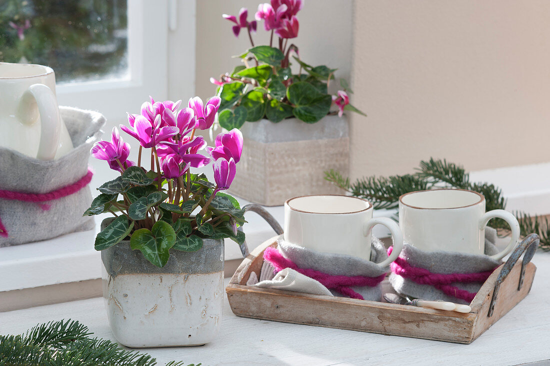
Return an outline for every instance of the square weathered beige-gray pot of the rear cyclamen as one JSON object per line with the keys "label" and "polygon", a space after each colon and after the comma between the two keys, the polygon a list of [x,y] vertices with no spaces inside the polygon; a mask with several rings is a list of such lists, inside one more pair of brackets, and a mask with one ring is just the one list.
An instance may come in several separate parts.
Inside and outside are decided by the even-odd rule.
{"label": "square weathered beige-gray pot of the rear cyclamen", "polygon": [[349,171],[349,128],[344,117],[326,116],[317,123],[296,118],[267,119],[241,127],[243,155],[230,192],[266,206],[289,198],[342,193],[324,179],[334,169]]}

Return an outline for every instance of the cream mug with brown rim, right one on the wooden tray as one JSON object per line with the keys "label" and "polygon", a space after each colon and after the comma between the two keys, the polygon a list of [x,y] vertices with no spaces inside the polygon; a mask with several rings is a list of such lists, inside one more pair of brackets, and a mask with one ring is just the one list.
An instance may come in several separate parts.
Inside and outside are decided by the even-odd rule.
{"label": "cream mug with brown rim, right one on the wooden tray", "polygon": [[464,189],[432,189],[410,192],[399,197],[399,227],[405,243],[435,251],[471,254],[485,253],[485,226],[491,218],[508,222],[511,239],[502,259],[518,242],[520,228],[514,215],[504,210],[485,212],[485,197]]}

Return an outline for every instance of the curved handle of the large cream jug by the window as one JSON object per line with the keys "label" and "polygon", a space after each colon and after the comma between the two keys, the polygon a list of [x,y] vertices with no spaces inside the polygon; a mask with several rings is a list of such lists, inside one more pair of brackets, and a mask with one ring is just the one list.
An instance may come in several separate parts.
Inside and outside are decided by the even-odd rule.
{"label": "curved handle of the large cream jug by the window", "polygon": [[53,91],[44,84],[33,84],[25,90],[19,101],[17,118],[23,124],[36,121],[36,106],[40,113],[40,144],[36,159],[53,160],[59,146],[61,114]]}

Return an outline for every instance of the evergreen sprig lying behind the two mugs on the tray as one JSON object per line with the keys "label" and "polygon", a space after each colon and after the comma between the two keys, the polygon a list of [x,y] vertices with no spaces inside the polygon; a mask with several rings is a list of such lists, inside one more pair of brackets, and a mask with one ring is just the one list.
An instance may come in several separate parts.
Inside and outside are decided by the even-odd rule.
{"label": "evergreen sprig lying behind the two mugs on the tray", "polygon": [[[505,209],[506,200],[502,189],[490,183],[472,183],[470,174],[464,167],[430,158],[421,161],[414,174],[389,177],[363,177],[351,183],[348,177],[333,170],[325,172],[325,179],[346,190],[351,195],[371,201],[375,209],[395,209],[399,206],[399,196],[415,190],[431,188],[459,188],[473,190],[485,196],[486,209]],[[540,236],[539,248],[550,250],[550,222],[548,218],[530,216],[524,212],[516,212],[520,224],[521,234],[526,236],[537,233]],[[494,218],[489,222],[494,228],[508,228],[508,224],[501,218]]]}

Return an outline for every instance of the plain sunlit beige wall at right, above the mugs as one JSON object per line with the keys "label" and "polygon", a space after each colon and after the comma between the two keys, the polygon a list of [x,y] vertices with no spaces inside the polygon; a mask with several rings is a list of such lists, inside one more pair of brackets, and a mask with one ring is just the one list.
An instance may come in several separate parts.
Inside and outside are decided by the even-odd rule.
{"label": "plain sunlit beige wall at right, above the mugs", "polygon": [[355,1],[351,176],[549,161],[549,19],[548,1]]}

